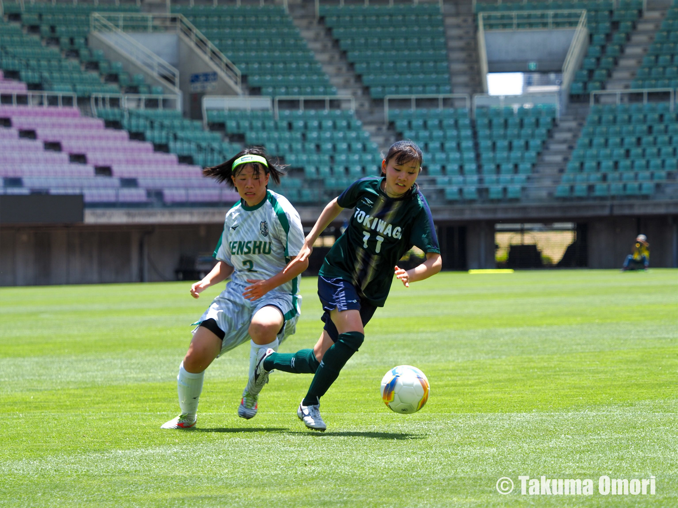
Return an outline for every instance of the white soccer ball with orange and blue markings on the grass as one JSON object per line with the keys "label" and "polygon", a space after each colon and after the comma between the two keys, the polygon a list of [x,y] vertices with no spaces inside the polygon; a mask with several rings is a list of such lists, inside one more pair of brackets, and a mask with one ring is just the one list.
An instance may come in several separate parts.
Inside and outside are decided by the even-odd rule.
{"label": "white soccer ball with orange and blue markings on the grass", "polygon": [[410,365],[392,368],[382,378],[382,399],[391,410],[416,413],[428,400],[428,379],[424,372]]}

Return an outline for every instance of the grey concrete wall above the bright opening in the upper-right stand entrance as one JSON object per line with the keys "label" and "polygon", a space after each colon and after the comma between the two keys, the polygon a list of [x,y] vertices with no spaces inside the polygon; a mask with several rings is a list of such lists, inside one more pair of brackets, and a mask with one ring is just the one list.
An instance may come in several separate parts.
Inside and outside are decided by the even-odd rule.
{"label": "grey concrete wall above the bright opening in the upper-right stand entrance", "polygon": [[572,37],[574,28],[485,32],[487,70],[527,72],[527,63],[537,62],[539,72],[560,72]]}

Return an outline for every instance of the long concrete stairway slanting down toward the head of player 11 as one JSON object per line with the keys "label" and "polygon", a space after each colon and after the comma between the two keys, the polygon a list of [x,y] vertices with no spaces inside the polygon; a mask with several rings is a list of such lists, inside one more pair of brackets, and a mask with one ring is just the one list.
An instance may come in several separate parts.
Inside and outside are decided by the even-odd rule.
{"label": "long concrete stairway slanting down toward the head of player 11", "polygon": [[337,88],[338,95],[355,98],[356,116],[363,122],[363,129],[370,132],[370,138],[384,151],[395,142],[395,132],[384,128],[384,110],[381,101],[372,101],[370,93],[346,60],[346,55],[332,38],[330,30],[315,18],[313,3],[290,4],[290,16],[306,39],[308,49],[323,66],[330,77],[330,83]]}

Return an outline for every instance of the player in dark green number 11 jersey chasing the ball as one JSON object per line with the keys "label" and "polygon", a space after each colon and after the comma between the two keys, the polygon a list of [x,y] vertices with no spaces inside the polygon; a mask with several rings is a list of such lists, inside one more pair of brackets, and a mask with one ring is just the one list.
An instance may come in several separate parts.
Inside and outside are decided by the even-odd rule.
{"label": "player in dark green number 11 jersey chasing the ball", "polygon": [[[364,326],[376,308],[384,306],[394,272],[410,287],[441,269],[431,210],[416,184],[421,163],[422,152],[412,141],[393,144],[382,161],[382,176],[362,178],[332,199],[298,256],[287,265],[290,270],[295,263],[305,262],[320,233],[344,208],[353,208],[348,228],[325,256],[318,277],[325,326],[315,348],[292,354],[261,351],[247,384],[256,391],[274,369],[315,374],[297,410],[310,429],[327,428],[320,416],[320,397],[363,343]],[[426,252],[426,261],[411,270],[400,269],[398,260],[412,246]]]}

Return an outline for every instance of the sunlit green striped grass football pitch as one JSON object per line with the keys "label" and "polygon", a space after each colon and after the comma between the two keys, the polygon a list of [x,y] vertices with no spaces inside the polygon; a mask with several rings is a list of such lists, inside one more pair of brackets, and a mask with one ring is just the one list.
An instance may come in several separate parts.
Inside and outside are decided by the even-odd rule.
{"label": "sunlit green striped grass football pitch", "polygon": [[[319,336],[315,283],[280,351]],[[678,507],[676,270],[395,281],[322,399],[325,433],[296,417],[308,374],[271,374],[256,418],[238,418],[248,346],[207,369],[196,430],[159,428],[221,289],[189,287],[0,290],[0,506]],[[416,414],[380,398],[399,364],[431,382]],[[542,475],[593,494],[521,493],[519,476]],[[654,477],[655,494],[601,494],[601,476]]]}

